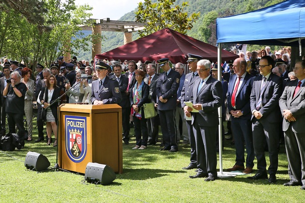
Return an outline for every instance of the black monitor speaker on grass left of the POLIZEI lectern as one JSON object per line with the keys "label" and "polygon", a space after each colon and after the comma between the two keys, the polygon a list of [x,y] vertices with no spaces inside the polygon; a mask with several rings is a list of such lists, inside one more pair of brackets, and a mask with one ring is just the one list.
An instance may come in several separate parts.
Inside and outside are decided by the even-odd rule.
{"label": "black monitor speaker on grass left of the POLIZEI lectern", "polygon": [[42,154],[38,154],[36,152],[28,152],[24,165],[27,167],[27,169],[44,171],[50,166],[50,162]]}

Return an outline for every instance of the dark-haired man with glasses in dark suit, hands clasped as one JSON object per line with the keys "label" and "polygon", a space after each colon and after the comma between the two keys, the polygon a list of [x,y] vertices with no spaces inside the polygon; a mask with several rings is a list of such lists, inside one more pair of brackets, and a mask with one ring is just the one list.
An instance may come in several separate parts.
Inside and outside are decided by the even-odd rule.
{"label": "dark-haired man with glasses in dark suit, hands clasped", "polygon": [[270,56],[263,56],[260,59],[260,75],[254,78],[250,96],[253,146],[259,171],[248,178],[257,180],[268,177],[264,147],[267,142],[270,160],[269,183],[276,182],[279,147],[278,123],[280,121],[278,100],[282,92],[282,79],[272,73],[273,67],[274,60]]}

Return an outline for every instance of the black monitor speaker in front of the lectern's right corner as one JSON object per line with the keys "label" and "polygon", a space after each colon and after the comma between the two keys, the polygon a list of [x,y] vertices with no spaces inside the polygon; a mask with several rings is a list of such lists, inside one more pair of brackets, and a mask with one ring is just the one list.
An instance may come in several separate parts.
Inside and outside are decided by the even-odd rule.
{"label": "black monitor speaker in front of the lectern's right corner", "polygon": [[108,185],[116,179],[116,174],[107,165],[89,162],[86,166],[85,179],[88,182],[101,182]]}

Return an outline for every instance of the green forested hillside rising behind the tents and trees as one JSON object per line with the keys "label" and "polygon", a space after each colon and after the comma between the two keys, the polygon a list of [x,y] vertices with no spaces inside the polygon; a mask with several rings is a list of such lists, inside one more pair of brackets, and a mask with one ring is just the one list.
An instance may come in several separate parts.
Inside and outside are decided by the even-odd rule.
{"label": "green forested hillside rising behind the tents and trees", "polygon": [[[189,30],[187,34],[203,42],[215,45],[216,17],[246,13],[282,2],[284,0],[176,0],[175,4],[181,5],[183,1],[187,1],[189,4],[189,6],[184,10],[188,14],[200,12],[200,18],[194,24],[193,29]],[[135,10],[136,9],[137,8],[135,8]],[[135,21],[135,11],[124,14],[119,20]],[[242,22],[241,26],[243,26]],[[124,36],[121,32],[105,31],[102,32],[102,35],[105,37],[104,41],[102,42],[102,52],[106,52],[123,45]],[[137,38],[138,34],[135,32],[133,34],[133,39],[136,40]],[[91,54],[83,54],[83,56],[91,56]]]}

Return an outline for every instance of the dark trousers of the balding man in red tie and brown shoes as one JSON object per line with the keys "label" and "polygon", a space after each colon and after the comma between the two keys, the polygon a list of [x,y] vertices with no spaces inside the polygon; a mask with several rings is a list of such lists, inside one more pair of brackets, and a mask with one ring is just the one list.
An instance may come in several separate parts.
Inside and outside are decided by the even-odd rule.
{"label": "dark trousers of the balding man in red tie and brown shoes", "polygon": [[252,140],[252,126],[250,119],[235,118],[232,116],[231,129],[234,135],[236,164],[244,166],[244,142],[246,146],[246,166],[253,168],[254,148]]}

